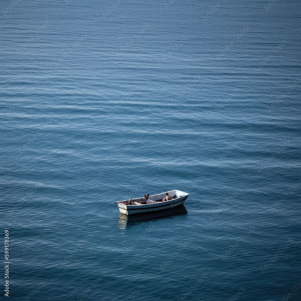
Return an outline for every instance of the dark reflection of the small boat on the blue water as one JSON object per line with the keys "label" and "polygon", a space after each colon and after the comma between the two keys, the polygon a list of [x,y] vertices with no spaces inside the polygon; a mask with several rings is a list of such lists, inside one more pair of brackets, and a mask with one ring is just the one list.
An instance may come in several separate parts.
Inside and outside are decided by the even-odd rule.
{"label": "dark reflection of the small boat on the blue water", "polygon": [[132,222],[142,222],[144,220],[149,220],[149,219],[160,219],[161,217],[165,218],[167,216],[185,215],[186,213],[187,210],[184,205],[180,205],[170,209],[149,212],[149,213],[140,213],[140,214],[132,214],[132,215],[126,215],[120,213],[118,226],[119,228],[124,228],[126,225],[129,225]]}

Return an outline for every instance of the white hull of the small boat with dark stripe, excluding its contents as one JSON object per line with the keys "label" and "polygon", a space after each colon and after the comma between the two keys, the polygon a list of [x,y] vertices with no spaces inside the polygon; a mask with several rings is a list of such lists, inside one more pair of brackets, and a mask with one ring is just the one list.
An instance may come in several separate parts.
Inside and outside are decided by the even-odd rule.
{"label": "white hull of the small boat with dark stripe, excluding its contents", "polygon": [[[141,204],[141,205],[125,205],[123,203],[118,202],[119,211],[120,213],[131,215],[131,214],[138,214],[138,213],[154,212],[163,209],[170,209],[182,205],[189,195],[188,193],[180,190],[172,190],[167,192],[170,197],[176,197],[176,198],[169,201],[157,202],[156,200],[160,200],[160,199],[162,200],[163,197],[166,196],[166,192],[165,192],[165,193],[149,196],[148,202],[154,201],[154,203]],[[136,202],[141,200],[143,200],[143,197],[135,199]]]}

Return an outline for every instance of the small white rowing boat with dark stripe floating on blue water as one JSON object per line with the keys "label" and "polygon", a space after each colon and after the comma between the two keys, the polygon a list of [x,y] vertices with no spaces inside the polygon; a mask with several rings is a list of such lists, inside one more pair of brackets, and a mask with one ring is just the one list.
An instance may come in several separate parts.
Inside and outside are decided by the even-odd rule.
{"label": "small white rowing boat with dark stripe floating on blue water", "polygon": [[144,195],[143,197],[136,199],[115,203],[118,204],[120,213],[131,215],[174,208],[182,205],[187,199],[188,195],[189,193],[184,191],[171,190],[160,194]]}

